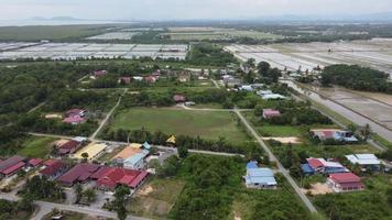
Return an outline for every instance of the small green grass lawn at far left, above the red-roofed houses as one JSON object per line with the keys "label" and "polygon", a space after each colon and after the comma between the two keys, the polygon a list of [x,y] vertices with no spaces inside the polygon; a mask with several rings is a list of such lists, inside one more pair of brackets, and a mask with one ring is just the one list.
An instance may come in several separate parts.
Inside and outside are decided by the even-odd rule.
{"label": "small green grass lawn at far left, above the red-roofed houses", "polygon": [[52,151],[54,138],[29,138],[23,144],[18,154],[26,157],[45,158]]}

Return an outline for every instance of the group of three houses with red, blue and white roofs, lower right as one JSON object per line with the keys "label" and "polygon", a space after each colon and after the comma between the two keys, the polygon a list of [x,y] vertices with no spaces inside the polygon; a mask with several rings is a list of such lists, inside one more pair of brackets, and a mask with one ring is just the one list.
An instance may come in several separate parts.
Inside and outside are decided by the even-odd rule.
{"label": "group of three houses with red, blue and white roofs, lower right", "polygon": [[[380,170],[382,162],[374,154],[346,155],[348,162],[357,164],[362,170]],[[335,160],[307,158],[301,168],[305,175],[327,175],[327,186],[336,193],[362,190],[364,185],[359,176],[351,173],[347,167]]]}

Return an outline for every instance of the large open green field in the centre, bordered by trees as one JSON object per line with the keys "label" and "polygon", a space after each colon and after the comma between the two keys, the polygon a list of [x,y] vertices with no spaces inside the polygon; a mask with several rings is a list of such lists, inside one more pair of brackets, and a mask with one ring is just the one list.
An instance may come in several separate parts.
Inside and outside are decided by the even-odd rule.
{"label": "large open green field in the centre, bordered by trees", "polygon": [[184,134],[243,143],[247,135],[242,133],[229,112],[189,111],[164,108],[133,108],[117,113],[111,124],[113,129],[162,131],[166,134]]}

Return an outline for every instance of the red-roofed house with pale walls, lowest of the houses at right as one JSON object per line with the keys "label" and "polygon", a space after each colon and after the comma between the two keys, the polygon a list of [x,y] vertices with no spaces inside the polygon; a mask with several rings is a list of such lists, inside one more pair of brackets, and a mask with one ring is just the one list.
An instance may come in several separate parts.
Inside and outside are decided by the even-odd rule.
{"label": "red-roofed house with pale walls, lowest of the houses at right", "polygon": [[327,185],[336,193],[356,191],[364,188],[361,179],[352,173],[330,174]]}

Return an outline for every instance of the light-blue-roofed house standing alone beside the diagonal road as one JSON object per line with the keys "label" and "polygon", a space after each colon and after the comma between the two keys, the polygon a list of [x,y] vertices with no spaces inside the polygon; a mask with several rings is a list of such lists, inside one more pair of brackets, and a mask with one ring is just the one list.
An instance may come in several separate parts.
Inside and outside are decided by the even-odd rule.
{"label": "light-blue-roofed house standing alone beside the diagonal road", "polygon": [[247,188],[276,189],[277,183],[270,168],[259,168],[257,162],[247,164],[247,175],[243,177]]}

